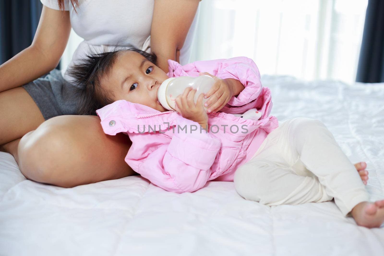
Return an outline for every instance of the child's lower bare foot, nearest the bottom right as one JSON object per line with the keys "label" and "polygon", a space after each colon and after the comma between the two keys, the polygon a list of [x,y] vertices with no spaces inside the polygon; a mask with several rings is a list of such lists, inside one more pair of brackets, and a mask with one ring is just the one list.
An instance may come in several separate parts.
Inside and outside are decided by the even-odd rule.
{"label": "child's lower bare foot, nearest the bottom right", "polygon": [[358,203],[351,213],[357,225],[378,228],[384,221],[384,200]]}

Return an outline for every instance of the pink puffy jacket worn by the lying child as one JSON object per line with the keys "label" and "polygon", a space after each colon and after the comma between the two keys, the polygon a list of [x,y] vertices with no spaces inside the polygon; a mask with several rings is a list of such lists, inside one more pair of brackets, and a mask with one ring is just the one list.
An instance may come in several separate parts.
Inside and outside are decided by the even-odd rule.
{"label": "pink puffy jacket worn by the lying child", "polygon": [[[266,135],[278,127],[276,117],[269,116],[271,92],[262,86],[256,64],[246,57],[195,61],[184,66],[168,60],[168,64],[169,77],[208,72],[222,79],[237,79],[245,88],[221,112],[208,114],[209,132],[176,111],[159,112],[125,100],[96,111],[104,132],[129,135],[132,146],[125,161],[165,190],[194,192],[209,180],[233,181],[237,167],[247,162]],[[233,115],[251,108],[263,113],[258,121]]]}

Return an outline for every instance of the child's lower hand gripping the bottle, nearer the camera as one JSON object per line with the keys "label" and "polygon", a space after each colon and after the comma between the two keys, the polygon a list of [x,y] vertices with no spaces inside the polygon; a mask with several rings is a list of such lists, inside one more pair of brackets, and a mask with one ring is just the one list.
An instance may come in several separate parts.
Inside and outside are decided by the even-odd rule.
{"label": "child's lower hand gripping the bottle, nearer the camera", "polygon": [[204,93],[199,95],[196,104],[193,101],[195,93],[196,89],[192,89],[192,87],[185,88],[183,94],[175,98],[175,109],[182,117],[198,122],[203,129],[207,129],[208,115],[203,107]]}

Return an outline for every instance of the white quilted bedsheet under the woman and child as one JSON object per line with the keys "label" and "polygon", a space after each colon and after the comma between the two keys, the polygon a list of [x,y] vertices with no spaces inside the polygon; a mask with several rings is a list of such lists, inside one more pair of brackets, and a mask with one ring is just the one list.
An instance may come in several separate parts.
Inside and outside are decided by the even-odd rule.
{"label": "white quilted bedsheet under the woman and child", "polygon": [[[384,83],[263,76],[279,121],[323,121],[384,198]],[[324,159],[326,161],[326,159]],[[362,228],[333,201],[265,206],[233,182],[166,192],[140,176],[75,188],[26,180],[0,152],[0,255],[384,255],[384,226]]]}

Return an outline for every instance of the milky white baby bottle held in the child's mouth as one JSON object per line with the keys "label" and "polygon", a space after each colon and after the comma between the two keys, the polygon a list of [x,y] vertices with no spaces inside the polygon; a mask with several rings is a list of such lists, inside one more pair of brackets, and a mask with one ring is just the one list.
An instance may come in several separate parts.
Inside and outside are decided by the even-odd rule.
{"label": "milky white baby bottle held in the child's mouth", "polygon": [[[188,86],[196,89],[194,102],[196,104],[197,98],[201,93],[207,93],[209,89],[214,85],[215,79],[208,75],[190,77],[190,76],[179,76],[178,78],[168,78],[165,80],[159,87],[157,91],[157,98],[159,99],[160,104],[170,110],[175,110],[175,98],[183,94],[184,89]],[[203,107],[207,110],[207,107],[204,106],[204,103],[208,100],[203,98]]]}

